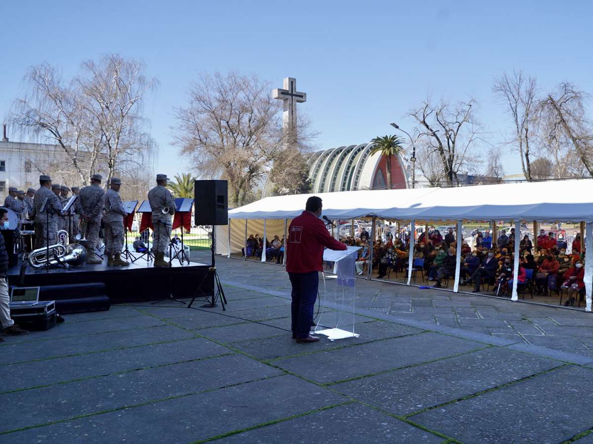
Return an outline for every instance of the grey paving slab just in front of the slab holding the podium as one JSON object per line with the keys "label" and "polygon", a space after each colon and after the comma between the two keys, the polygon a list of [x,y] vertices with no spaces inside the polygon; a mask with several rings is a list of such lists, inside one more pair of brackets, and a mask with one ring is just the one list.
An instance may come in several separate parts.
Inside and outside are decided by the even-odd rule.
{"label": "grey paving slab just in front of the slab holding the podium", "polygon": [[[432,346],[435,343],[438,343],[438,347]],[[281,368],[324,383],[447,358],[484,347],[483,344],[465,339],[423,333],[274,362]],[[418,350],[423,352],[419,353]]]}

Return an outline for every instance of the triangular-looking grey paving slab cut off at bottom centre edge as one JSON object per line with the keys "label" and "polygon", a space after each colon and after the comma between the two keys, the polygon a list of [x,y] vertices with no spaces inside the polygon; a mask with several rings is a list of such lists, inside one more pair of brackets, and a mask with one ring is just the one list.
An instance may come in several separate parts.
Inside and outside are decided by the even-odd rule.
{"label": "triangular-looking grey paving slab cut off at bottom centre edge", "polygon": [[310,437],[308,442],[359,443],[441,443],[442,437],[411,426],[393,416],[358,403],[312,413],[266,427],[227,436],[214,443],[280,443],[294,437]]}

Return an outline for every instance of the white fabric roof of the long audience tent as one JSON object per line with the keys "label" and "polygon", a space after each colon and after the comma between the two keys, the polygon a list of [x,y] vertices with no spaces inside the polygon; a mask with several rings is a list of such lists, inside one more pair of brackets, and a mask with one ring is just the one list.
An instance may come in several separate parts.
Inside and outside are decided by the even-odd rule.
{"label": "white fabric roof of the long audience tent", "polygon": [[[229,211],[229,218],[293,218],[311,195],[267,197]],[[315,195],[332,219],[593,221],[593,179]]]}

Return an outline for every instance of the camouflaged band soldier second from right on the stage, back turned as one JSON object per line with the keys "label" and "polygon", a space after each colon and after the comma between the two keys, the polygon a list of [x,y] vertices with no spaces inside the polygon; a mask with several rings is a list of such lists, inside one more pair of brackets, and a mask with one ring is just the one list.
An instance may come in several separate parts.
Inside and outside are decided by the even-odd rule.
{"label": "camouflaged band soldier second from right on the stage, back turned", "polygon": [[123,250],[123,218],[127,216],[123,208],[122,199],[119,197],[119,189],[122,181],[119,178],[111,178],[109,189],[105,193],[105,253],[107,254],[107,266],[130,265],[120,257]]}

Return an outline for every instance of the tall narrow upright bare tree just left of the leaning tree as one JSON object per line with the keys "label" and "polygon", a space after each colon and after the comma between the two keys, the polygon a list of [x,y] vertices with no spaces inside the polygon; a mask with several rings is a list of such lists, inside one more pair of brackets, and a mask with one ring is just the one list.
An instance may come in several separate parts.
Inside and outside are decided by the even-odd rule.
{"label": "tall narrow upright bare tree just left of the leaning tree", "polygon": [[503,73],[494,81],[493,91],[504,102],[506,112],[511,116],[513,133],[511,144],[521,157],[521,169],[525,178],[531,180],[531,149],[537,135],[532,127],[535,121],[538,89],[534,77],[525,76],[521,70],[512,75]]}

